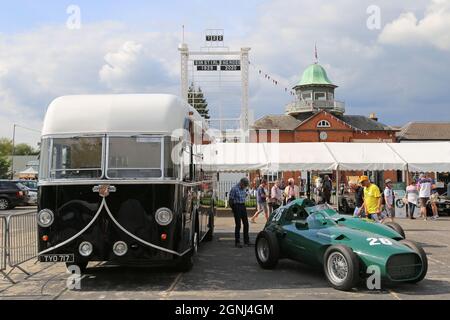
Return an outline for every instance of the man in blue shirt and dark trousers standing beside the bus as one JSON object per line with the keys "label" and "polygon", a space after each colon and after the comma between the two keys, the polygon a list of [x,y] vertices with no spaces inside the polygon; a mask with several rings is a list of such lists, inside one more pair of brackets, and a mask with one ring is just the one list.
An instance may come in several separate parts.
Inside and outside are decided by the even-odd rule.
{"label": "man in blue shirt and dark trousers standing beside the bus", "polygon": [[234,221],[236,223],[234,238],[235,246],[237,248],[242,248],[240,241],[241,221],[244,225],[244,243],[247,246],[250,245],[248,216],[247,209],[245,208],[245,199],[247,198],[247,188],[249,184],[247,178],[242,178],[241,181],[230,190],[229,203],[231,210],[233,210]]}

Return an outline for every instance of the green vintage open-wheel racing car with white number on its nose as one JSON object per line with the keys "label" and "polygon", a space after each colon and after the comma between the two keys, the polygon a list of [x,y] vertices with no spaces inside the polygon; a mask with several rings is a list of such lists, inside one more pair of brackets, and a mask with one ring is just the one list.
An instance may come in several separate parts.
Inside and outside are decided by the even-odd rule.
{"label": "green vintage open-wheel racing car with white number on its nose", "polygon": [[275,210],[255,243],[259,265],[273,269],[289,258],[323,268],[329,284],[350,290],[378,270],[381,279],[416,283],[425,278],[425,251],[406,240],[398,224],[343,216],[328,205],[298,199]]}

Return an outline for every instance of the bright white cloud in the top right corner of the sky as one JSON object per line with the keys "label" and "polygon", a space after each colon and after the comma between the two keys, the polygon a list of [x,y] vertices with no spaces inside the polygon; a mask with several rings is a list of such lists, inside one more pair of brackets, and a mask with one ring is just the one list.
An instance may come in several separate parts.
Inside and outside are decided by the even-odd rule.
{"label": "bright white cloud in the top right corner of the sky", "polygon": [[428,45],[450,51],[450,0],[433,0],[422,19],[402,13],[387,24],[379,40],[384,44]]}

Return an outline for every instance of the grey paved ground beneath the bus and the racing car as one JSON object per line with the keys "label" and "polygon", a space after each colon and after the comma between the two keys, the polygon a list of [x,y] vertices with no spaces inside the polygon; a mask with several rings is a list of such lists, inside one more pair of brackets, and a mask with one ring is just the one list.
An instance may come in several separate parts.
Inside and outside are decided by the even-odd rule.
{"label": "grey paved ground beneath the bus and the racing car", "polygon": [[[251,225],[253,240],[262,220]],[[450,299],[450,218],[398,222],[428,254],[428,275],[419,284],[340,292],[329,287],[321,270],[297,262],[283,260],[276,270],[263,270],[254,248],[234,248],[233,219],[218,218],[214,241],[200,247],[189,273],[93,263],[81,290],[68,290],[62,264],[31,261],[24,266],[30,277],[12,272],[15,285],[0,276],[0,299]]]}

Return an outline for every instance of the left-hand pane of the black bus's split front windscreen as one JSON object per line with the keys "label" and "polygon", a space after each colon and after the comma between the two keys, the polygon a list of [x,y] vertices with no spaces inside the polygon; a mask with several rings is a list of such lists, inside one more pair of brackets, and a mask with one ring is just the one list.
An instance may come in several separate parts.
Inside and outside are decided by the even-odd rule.
{"label": "left-hand pane of the black bus's split front windscreen", "polygon": [[101,178],[102,147],[102,137],[54,138],[50,147],[50,177]]}

